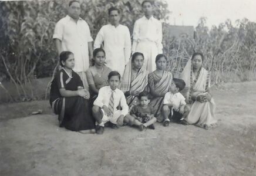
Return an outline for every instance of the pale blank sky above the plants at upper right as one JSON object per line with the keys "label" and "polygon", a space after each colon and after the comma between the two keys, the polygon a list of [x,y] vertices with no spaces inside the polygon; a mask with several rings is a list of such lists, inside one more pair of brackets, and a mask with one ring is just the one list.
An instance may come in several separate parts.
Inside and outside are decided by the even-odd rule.
{"label": "pale blank sky above the plants at upper right", "polygon": [[166,0],[171,11],[171,25],[197,26],[201,16],[207,18],[207,26],[218,26],[226,19],[247,18],[256,22],[256,0]]}

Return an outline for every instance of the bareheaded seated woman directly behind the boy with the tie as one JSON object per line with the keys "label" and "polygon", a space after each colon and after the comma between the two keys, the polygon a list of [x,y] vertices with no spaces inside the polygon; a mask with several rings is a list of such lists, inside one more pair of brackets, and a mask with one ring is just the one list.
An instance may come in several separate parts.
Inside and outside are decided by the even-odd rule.
{"label": "bareheaded seated woman directly behind the boy with the tie", "polygon": [[94,100],[99,93],[99,89],[109,85],[109,83],[107,83],[107,75],[109,75],[111,69],[105,65],[105,59],[105,50],[101,48],[93,50],[94,65],[87,69],[86,76],[89,90]]}

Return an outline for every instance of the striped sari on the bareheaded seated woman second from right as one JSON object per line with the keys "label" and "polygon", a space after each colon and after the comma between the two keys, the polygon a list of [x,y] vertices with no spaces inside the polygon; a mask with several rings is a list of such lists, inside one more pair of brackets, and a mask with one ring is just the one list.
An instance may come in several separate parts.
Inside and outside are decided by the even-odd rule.
{"label": "striped sari on the bareheaded seated woman second from right", "polygon": [[[157,81],[152,87],[151,82]],[[149,74],[149,89],[154,89],[156,93],[166,94],[169,90],[171,81],[173,80],[173,75],[170,72],[164,71],[162,77],[158,77],[154,72]],[[154,116],[157,118],[157,121],[161,122],[164,120],[164,117],[161,116],[161,111],[163,108],[164,97],[153,97],[150,100],[150,104],[154,109]]]}

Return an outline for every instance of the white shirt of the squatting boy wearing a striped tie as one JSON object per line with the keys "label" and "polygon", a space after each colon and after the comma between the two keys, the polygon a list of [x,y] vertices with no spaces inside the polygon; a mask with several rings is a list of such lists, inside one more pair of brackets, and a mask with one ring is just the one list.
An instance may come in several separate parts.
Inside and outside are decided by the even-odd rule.
{"label": "white shirt of the squatting boy wearing a striped tie", "polygon": [[[112,89],[110,88],[110,86],[105,86],[100,88],[97,99],[94,101],[93,104],[101,108],[104,105],[109,107],[109,100],[110,100],[111,94],[112,94]],[[116,89],[114,90],[113,96],[114,96],[114,112],[117,110],[117,107],[120,104],[120,106],[122,107],[121,114],[123,116],[126,116],[126,114],[128,113],[129,107],[126,103],[126,99],[124,97],[123,92],[119,89]]]}

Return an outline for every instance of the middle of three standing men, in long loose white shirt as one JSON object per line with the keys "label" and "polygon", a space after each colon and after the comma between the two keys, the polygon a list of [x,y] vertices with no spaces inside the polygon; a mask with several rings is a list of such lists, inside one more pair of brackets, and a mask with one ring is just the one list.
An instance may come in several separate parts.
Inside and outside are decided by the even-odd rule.
{"label": "middle of three standing men, in long loose white shirt", "polygon": [[130,32],[127,26],[119,23],[119,9],[114,7],[109,9],[109,21],[110,24],[102,26],[97,33],[94,49],[100,48],[104,42],[107,66],[123,76],[124,66],[131,55]]}

